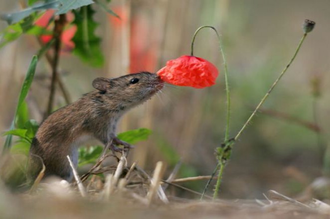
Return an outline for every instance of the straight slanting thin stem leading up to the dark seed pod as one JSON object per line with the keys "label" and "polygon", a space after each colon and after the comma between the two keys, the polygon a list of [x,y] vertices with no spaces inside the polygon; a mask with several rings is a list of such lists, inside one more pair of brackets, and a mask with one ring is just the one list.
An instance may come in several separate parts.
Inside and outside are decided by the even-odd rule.
{"label": "straight slanting thin stem leading up to the dark seed pod", "polygon": [[266,101],[266,99],[268,98],[268,96],[270,95],[270,93],[273,91],[273,89],[275,88],[275,86],[277,85],[277,83],[280,81],[280,79],[282,78],[282,76],[286,73],[286,71],[288,70],[288,68],[290,67],[291,63],[293,62],[293,60],[295,60],[300,47],[302,46],[305,38],[307,36],[307,33],[304,33],[303,37],[301,38],[298,47],[296,49],[295,54],[293,55],[293,57],[291,58],[289,64],[283,69],[283,71],[281,72],[281,74],[279,75],[279,77],[275,80],[275,82],[273,83],[273,85],[270,87],[270,89],[268,90],[268,92],[266,93],[266,95],[261,99],[260,103],[258,104],[258,106],[256,107],[256,109],[254,109],[254,111],[252,112],[252,114],[250,115],[250,117],[248,118],[248,120],[244,123],[243,127],[241,128],[241,130],[239,130],[239,132],[236,134],[234,141],[236,141],[239,136],[242,134],[242,132],[244,131],[244,129],[246,128],[246,126],[250,123],[250,121],[252,120],[252,118],[255,116],[255,114],[257,113],[257,111],[260,109],[260,107],[264,104],[264,102]]}

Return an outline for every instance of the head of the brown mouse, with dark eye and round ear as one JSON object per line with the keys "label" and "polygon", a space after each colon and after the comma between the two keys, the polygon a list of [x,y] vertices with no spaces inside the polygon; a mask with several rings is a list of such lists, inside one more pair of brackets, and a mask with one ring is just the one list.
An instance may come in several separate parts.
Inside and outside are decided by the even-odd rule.
{"label": "head of the brown mouse, with dark eye and round ear", "polygon": [[121,107],[133,107],[160,91],[164,82],[156,74],[140,72],[119,78],[96,78],[93,87],[109,101]]}

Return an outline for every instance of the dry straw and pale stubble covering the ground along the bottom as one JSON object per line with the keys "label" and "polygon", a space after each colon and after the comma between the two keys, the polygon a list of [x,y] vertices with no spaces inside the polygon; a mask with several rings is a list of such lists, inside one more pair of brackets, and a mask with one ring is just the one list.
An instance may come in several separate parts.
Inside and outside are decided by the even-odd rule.
{"label": "dry straw and pale stubble covering the ground along the bottom", "polygon": [[[105,172],[105,179],[93,175],[92,171],[83,184],[78,182],[70,185],[64,180],[47,179],[39,184],[33,194],[28,192],[10,194],[1,187],[1,218],[319,219],[330,217],[330,205],[324,202],[311,199],[302,203],[276,191],[269,191],[264,195],[265,200],[197,201],[179,198],[165,190],[166,187],[162,187],[165,185],[165,183],[161,184],[164,178],[162,162],[157,163],[153,176],[149,176],[136,163],[129,166],[126,156],[127,153],[123,153],[120,158],[117,157],[116,168],[103,166],[104,159],[101,157],[99,170],[113,168],[112,172]],[[97,170],[95,166],[93,168]],[[207,178],[209,176],[186,179],[171,177],[170,185]],[[80,185],[80,188],[77,185]]]}

